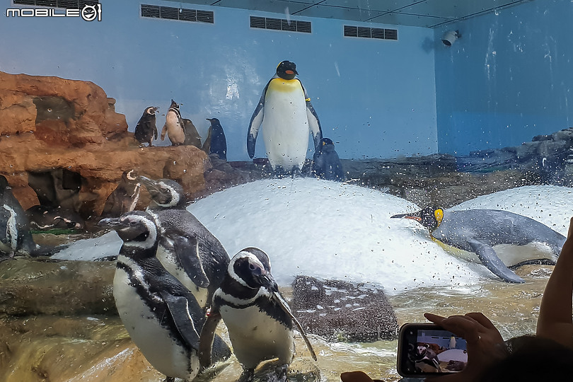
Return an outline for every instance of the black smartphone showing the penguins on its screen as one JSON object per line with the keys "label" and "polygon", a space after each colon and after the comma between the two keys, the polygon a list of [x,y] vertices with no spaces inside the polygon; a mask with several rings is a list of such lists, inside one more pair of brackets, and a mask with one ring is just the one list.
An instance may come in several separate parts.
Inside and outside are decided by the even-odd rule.
{"label": "black smartphone showing the penguins on its screen", "polygon": [[468,364],[463,337],[432,323],[405,323],[398,335],[398,374],[428,377],[458,373]]}

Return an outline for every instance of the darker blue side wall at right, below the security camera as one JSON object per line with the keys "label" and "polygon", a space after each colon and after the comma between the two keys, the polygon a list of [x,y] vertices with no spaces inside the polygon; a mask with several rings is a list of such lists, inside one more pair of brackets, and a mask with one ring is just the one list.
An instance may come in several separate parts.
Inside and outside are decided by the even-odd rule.
{"label": "darker blue side wall at right, below the security camera", "polygon": [[572,127],[573,2],[536,0],[436,28],[439,151],[517,146]]}

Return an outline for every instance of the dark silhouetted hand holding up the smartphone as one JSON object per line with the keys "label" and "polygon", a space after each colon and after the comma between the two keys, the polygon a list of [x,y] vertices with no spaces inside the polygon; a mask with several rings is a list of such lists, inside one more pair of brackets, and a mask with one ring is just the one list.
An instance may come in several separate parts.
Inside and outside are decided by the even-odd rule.
{"label": "dark silhouetted hand holding up the smartphone", "polygon": [[479,381],[481,374],[493,364],[506,358],[507,348],[502,335],[482,313],[448,318],[425,313],[424,317],[442,328],[463,337],[467,343],[468,364],[456,374],[428,378],[432,382]]}

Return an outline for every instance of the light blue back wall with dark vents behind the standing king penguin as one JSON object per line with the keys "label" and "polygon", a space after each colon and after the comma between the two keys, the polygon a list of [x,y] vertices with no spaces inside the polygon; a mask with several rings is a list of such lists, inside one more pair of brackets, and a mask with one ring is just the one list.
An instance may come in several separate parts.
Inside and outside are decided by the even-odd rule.
{"label": "light blue back wall with dark vents behind the standing king penguin", "polygon": [[[249,28],[250,15],[272,13],[144,1],[214,11],[215,23],[205,24],[141,18],[140,1],[101,3],[103,21],[86,22],[8,18],[10,1],[0,0],[0,70],[93,81],[116,98],[130,131],[146,106],[164,113],[173,98],[203,137],[205,118],[218,117],[228,159],[246,160],[250,116],[277,64],[289,59],[342,158],[437,151],[431,29],[398,26],[398,41],[369,40],[343,37],[338,20],[296,18],[312,21],[313,33],[286,33]],[[265,156],[262,141],[256,155]]]}

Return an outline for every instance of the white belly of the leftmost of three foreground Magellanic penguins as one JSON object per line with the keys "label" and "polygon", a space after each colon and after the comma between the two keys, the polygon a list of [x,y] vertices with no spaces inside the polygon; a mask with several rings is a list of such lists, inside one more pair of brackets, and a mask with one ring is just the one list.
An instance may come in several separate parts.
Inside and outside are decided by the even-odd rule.
{"label": "white belly of the leftmost of three foreground Magellanic penguins", "polygon": [[[127,258],[120,256],[120,259],[129,265]],[[166,376],[189,380],[195,378],[199,370],[199,359],[187,357],[185,349],[175,345],[169,331],[158,324],[136,289],[129,286],[127,273],[122,269],[115,270],[113,296],[129,337],[149,363]],[[192,370],[195,371],[191,374],[187,371],[190,362]]]}

